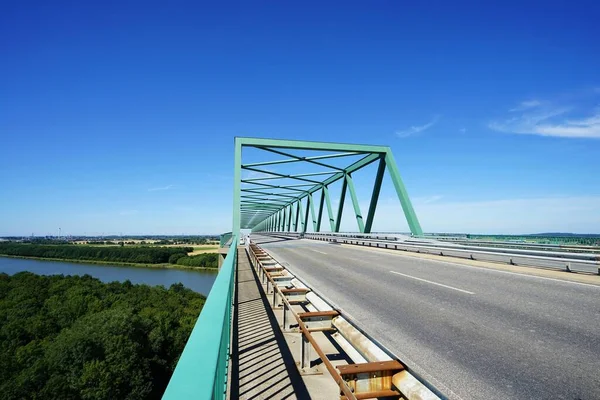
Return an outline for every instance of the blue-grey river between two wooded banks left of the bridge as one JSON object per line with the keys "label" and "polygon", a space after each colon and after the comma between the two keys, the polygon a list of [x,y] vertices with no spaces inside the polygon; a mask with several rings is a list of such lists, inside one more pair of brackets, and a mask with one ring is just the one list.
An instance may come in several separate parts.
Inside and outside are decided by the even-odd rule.
{"label": "blue-grey river between two wooded banks left of the bridge", "polygon": [[147,285],[171,286],[173,283],[183,285],[193,291],[208,296],[212,287],[216,271],[193,271],[184,269],[167,268],[140,268],[125,267],[120,265],[94,265],[79,264],[65,261],[46,261],[24,258],[9,258],[0,256],[0,273],[9,275],[21,271],[29,271],[39,275],[91,275],[102,282],[123,282],[127,279],[131,283],[145,283]]}

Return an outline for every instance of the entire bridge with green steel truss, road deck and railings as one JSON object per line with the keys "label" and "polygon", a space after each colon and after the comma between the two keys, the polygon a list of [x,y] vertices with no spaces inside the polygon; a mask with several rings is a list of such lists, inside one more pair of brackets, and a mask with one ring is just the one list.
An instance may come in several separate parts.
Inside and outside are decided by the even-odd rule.
{"label": "entire bridge with green steel truss, road deck and railings", "polygon": [[[163,398],[600,398],[598,248],[425,235],[386,146],[234,151],[226,257]],[[372,232],[386,172],[410,232]]]}

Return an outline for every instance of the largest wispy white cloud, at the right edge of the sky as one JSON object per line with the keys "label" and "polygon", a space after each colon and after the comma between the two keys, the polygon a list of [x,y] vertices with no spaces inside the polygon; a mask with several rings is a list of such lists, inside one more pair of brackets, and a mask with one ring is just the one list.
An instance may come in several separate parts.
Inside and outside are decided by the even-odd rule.
{"label": "largest wispy white cloud, at the right edge of the sky", "polygon": [[520,115],[492,121],[488,127],[507,133],[600,139],[600,108],[588,111],[585,116],[568,117],[574,110],[576,108],[572,106],[551,105],[538,100],[525,101],[518,108],[509,110],[513,115],[520,111]]}

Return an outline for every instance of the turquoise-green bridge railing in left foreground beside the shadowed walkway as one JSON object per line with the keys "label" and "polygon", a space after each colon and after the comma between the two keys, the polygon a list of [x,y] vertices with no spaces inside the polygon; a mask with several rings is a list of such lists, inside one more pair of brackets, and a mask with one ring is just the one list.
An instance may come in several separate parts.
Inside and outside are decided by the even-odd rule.
{"label": "turquoise-green bridge railing in left foreground beside the shadowed walkway", "polygon": [[238,237],[231,247],[163,395],[165,400],[224,399]]}

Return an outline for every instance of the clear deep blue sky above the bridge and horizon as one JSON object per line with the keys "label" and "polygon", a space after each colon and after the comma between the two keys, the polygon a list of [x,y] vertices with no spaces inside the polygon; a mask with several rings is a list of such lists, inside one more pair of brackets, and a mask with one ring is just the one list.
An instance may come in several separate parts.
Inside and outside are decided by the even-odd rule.
{"label": "clear deep blue sky above the bridge and horizon", "polygon": [[0,235],[228,231],[236,135],[391,146],[425,231],[600,232],[596,2],[214,3],[0,5]]}

